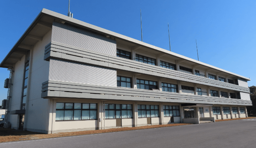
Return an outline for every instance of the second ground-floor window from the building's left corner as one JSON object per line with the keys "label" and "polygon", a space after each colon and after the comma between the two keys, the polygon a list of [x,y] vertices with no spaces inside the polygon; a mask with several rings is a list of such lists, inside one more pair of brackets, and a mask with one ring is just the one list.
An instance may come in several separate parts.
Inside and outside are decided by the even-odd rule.
{"label": "second ground-floor window from the building's left corner", "polygon": [[105,104],[105,118],[132,118],[132,104]]}

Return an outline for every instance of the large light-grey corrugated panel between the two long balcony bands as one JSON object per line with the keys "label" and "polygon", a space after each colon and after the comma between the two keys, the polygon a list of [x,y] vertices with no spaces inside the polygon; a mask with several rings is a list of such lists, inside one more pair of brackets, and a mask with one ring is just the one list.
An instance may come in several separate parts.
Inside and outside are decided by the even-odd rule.
{"label": "large light-grey corrugated panel between the two long balcony bands", "polygon": [[49,80],[116,87],[116,70],[50,59]]}

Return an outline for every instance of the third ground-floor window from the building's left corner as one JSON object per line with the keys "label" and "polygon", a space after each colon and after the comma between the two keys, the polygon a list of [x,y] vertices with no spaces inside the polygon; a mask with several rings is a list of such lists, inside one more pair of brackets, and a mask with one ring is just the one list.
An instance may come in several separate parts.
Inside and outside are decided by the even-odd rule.
{"label": "third ground-floor window from the building's left corner", "polygon": [[138,118],[159,117],[158,105],[138,105]]}

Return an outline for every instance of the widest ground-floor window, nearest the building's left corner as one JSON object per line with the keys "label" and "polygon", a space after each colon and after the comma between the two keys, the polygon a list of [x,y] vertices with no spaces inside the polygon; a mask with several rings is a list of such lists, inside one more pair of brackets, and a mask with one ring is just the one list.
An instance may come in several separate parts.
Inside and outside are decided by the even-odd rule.
{"label": "widest ground-floor window, nearest the building's left corner", "polygon": [[55,120],[97,120],[97,104],[57,102]]}

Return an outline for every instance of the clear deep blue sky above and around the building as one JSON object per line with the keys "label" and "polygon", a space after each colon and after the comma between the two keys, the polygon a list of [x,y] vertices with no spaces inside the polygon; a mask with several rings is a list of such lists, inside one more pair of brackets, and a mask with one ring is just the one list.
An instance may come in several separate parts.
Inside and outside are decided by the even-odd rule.
{"label": "clear deep blue sky above and around the building", "polygon": [[[256,85],[255,0],[70,0],[75,19],[141,40],[249,77]],[[49,9],[67,15],[68,0],[3,0],[0,15],[0,61],[7,55],[39,12]],[[9,77],[0,68],[0,101]],[[22,94],[21,94],[22,95]]]}

